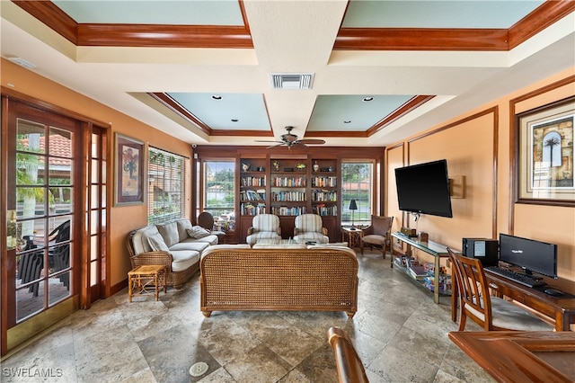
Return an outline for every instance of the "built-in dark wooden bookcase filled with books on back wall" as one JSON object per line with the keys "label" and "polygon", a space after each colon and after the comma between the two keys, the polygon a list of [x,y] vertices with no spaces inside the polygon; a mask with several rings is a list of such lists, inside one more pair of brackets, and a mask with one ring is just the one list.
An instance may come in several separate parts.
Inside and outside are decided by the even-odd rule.
{"label": "built-in dark wooden bookcase filled with books on back wall", "polygon": [[381,163],[384,148],[201,146],[194,153],[198,160],[235,158],[237,243],[245,243],[253,217],[260,213],[278,215],[286,239],[294,236],[297,215],[319,214],[330,241],[337,242],[341,241],[341,162],[373,158]]}

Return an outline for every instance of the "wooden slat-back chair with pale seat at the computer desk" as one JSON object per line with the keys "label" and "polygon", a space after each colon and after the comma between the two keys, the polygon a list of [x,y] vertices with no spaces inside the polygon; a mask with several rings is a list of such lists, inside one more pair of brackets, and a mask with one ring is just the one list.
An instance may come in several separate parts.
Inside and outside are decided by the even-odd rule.
{"label": "wooden slat-back chair with pale seat at the computer desk", "polygon": [[481,261],[456,254],[450,248],[447,253],[455,269],[459,289],[459,328],[464,331],[469,316],[485,331],[553,331],[553,327],[522,307],[498,297],[491,297],[489,284]]}

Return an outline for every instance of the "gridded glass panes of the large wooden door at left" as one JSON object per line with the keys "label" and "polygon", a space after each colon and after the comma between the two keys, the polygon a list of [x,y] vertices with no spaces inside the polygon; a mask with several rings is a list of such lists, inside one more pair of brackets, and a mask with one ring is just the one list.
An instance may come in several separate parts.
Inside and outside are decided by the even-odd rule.
{"label": "gridded glass panes of the large wooden door at left", "polygon": [[71,296],[75,133],[16,119],[15,322]]}

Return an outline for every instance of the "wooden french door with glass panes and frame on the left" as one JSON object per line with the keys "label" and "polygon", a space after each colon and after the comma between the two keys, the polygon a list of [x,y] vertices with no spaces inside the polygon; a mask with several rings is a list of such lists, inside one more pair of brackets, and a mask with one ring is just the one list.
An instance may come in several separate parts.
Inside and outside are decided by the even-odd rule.
{"label": "wooden french door with glass panes and frame on the left", "polygon": [[2,106],[4,354],[103,296],[108,204],[105,129],[6,98]]}

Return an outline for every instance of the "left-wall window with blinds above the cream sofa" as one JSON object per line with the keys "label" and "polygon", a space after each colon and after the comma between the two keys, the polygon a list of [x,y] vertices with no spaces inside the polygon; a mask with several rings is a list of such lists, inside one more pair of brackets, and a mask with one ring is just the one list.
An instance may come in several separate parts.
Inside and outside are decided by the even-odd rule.
{"label": "left-wall window with blinds above the cream sofa", "polygon": [[147,164],[147,221],[161,224],[184,217],[184,158],[150,147]]}

